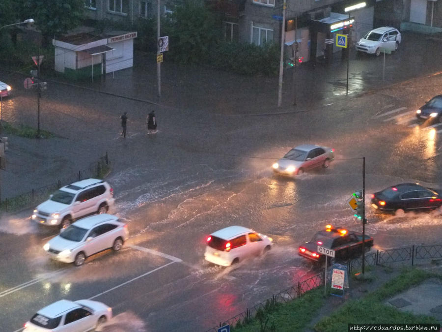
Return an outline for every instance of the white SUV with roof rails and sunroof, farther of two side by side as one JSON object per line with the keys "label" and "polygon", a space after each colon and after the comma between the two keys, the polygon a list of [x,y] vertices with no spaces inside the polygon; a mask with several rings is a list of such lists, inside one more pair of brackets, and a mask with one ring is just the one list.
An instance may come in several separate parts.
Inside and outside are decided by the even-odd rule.
{"label": "white SUV with roof rails and sunroof, farther of two side by side", "polygon": [[73,220],[92,213],[106,213],[113,206],[113,189],[108,182],[86,179],[61,187],[40,204],[32,219],[44,225],[66,228]]}

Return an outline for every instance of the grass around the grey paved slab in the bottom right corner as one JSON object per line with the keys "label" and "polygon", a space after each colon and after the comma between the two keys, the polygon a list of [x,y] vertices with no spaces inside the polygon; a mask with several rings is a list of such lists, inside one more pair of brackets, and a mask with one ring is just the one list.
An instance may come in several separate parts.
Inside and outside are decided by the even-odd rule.
{"label": "grass around the grey paved slab in the bottom right corner", "polygon": [[330,316],[323,318],[315,325],[315,331],[348,331],[349,323],[437,324],[436,318],[402,312],[383,303],[387,298],[405,291],[430,277],[441,278],[441,276],[431,272],[406,268],[400,275],[386,282],[376,291],[369,293],[363,299],[350,301]]}

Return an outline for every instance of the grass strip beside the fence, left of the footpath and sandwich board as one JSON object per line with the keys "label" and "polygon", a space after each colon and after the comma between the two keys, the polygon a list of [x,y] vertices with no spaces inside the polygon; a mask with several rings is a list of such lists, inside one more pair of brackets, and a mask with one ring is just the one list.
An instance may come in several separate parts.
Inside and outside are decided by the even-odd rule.
{"label": "grass strip beside the fence, left of the footpath and sandwich board", "polygon": [[324,289],[318,287],[308,291],[300,299],[287,303],[275,303],[247,322],[238,323],[234,332],[256,331],[304,331],[311,318],[323,306]]}

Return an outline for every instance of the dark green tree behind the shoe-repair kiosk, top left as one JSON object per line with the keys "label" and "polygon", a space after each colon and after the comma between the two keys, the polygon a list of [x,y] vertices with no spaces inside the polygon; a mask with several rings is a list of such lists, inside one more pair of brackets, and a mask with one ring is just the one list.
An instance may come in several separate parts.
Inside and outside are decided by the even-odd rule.
{"label": "dark green tree behind the shoe-repair kiosk, top left", "polygon": [[35,26],[42,33],[44,45],[49,45],[54,36],[76,28],[83,19],[83,0],[17,0],[17,2],[20,4],[21,16],[29,16],[29,13],[32,13]]}

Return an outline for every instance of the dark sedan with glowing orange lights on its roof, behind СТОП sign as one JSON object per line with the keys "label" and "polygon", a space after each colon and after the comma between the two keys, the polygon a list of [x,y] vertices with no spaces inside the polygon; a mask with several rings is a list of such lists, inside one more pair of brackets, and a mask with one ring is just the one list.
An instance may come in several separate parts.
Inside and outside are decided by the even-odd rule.
{"label": "dark sedan with glowing orange lights on its roof, behind \u0421\u0422\u041e\u041f sign", "polygon": [[[365,234],[364,242],[366,250],[373,246],[373,238],[369,235]],[[325,230],[319,231],[313,239],[299,246],[298,255],[313,262],[324,262],[325,255],[318,253],[318,246],[333,249],[334,259],[345,261],[362,254],[362,233],[327,225]]]}

